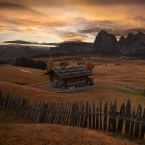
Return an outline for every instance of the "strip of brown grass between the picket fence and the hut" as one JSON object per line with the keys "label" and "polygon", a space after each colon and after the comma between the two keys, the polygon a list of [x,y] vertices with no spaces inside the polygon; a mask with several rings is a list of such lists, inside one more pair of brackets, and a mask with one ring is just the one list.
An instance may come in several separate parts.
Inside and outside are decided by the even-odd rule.
{"label": "strip of brown grass between the picket fence and the hut", "polygon": [[118,106],[121,106],[123,102],[126,103],[127,100],[130,99],[132,108],[137,108],[139,104],[145,107],[145,96],[141,93],[99,81],[96,81],[95,84],[96,85],[93,88],[68,93],[55,93],[41,90],[39,88],[21,86],[6,82],[0,82],[0,88],[4,91],[10,92],[11,94],[18,94],[24,98],[29,98],[30,100],[35,101],[89,101],[90,103],[94,101],[95,103],[99,103],[99,100],[102,99],[104,104],[106,101],[114,101],[116,99]]}

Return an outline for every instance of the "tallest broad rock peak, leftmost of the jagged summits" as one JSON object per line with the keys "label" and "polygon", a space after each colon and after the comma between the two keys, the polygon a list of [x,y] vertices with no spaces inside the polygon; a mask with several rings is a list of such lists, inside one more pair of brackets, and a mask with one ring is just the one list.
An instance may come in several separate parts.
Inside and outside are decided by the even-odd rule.
{"label": "tallest broad rock peak, leftmost of the jagged summits", "polygon": [[94,42],[94,51],[103,54],[118,54],[116,49],[117,39],[107,31],[100,31]]}

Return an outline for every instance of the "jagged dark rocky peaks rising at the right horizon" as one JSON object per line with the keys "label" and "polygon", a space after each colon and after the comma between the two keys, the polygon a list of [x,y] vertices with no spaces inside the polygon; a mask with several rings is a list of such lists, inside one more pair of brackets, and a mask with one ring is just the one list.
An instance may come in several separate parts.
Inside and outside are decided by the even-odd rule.
{"label": "jagged dark rocky peaks rising at the right horizon", "polygon": [[138,34],[130,33],[117,41],[113,34],[101,30],[94,41],[93,51],[107,55],[140,55],[145,53],[145,34],[140,31]]}

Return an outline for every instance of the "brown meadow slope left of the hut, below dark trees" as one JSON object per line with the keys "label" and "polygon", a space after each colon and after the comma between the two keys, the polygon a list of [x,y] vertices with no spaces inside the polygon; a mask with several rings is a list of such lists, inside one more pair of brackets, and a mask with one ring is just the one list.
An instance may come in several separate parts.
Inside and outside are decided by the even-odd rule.
{"label": "brown meadow slope left of the hut, below dark trees", "polygon": [[[30,71],[31,73],[23,72],[20,69]],[[0,81],[27,84],[44,83],[48,81],[46,76],[42,76],[45,72],[45,70],[39,69],[0,65]]]}

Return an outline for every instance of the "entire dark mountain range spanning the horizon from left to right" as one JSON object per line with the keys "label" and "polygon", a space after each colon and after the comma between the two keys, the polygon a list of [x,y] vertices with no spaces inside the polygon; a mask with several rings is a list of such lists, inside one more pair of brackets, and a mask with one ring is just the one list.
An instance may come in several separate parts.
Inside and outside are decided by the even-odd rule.
{"label": "entire dark mountain range spanning the horizon from left to right", "polygon": [[145,59],[145,34],[129,33],[127,37],[121,36],[119,41],[113,34],[101,30],[95,38],[94,43],[81,41],[65,41],[59,43],[57,47],[45,50],[45,48],[31,46],[7,45],[0,46],[0,58],[18,58],[25,57],[43,57],[43,56],[61,56],[61,55],[107,55],[107,56],[130,56]]}

